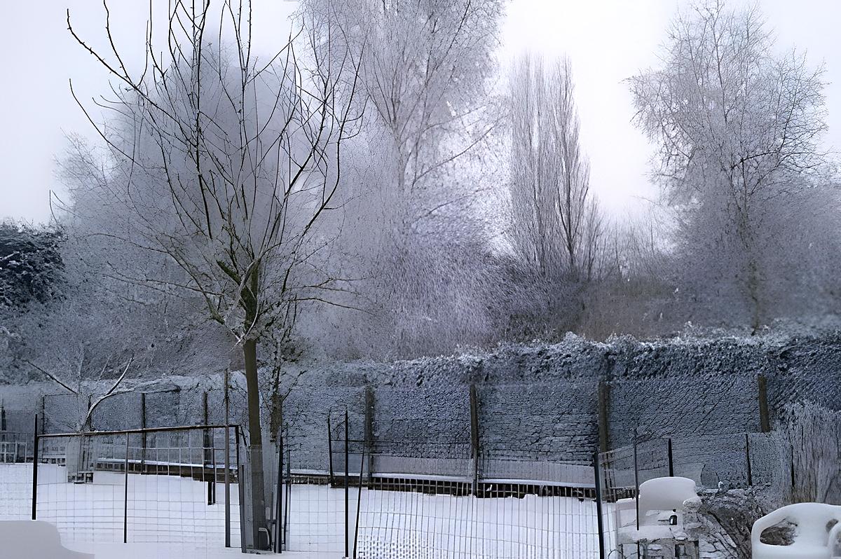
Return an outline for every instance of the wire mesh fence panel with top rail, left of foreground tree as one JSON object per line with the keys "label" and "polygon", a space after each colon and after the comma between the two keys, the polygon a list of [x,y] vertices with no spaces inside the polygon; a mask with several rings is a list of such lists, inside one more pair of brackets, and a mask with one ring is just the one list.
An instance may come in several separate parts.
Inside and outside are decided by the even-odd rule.
{"label": "wire mesh fence panel with top rail, left of foreground tree", "polygon": [[[33,463],[15,465],[21,471],[13,475],[22,479],[17,501],[34,502],[32,517],[56,525],[66,541],[236,546],[234,430],[217,425],[39,435]],[[20,494],[25,485],[29,490]]]}

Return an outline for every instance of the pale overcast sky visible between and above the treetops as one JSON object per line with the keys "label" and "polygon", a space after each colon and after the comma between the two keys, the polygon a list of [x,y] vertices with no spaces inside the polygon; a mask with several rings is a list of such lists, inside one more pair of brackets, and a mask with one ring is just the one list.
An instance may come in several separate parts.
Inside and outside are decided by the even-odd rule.
{"label": "pale overcast sky visible between and above the treetops", "polygon": [[[166,0],[155,0],[161,10]],[[741,3],[739,1],[733,2]],[[142,62],[147,3],[112,2],[118,46]],[[778,45],[796,45],[827,66],[828,149],[841,148],[841,2],[759,2]],[[632,105],[622,80],[657,63],[669,20],[684,0],[513,0],[502,29],[500,63],[523,50],[569,55],[577,87],[584,149],[594,191],[611,214],[621,216],[656,196],[648,181],[651,148],[631,124]],[[0,20],[0,219],[40,222],[49,218],[50,189],[66,132],[93,138],[93,129],[70,95],[73,79],[82,98],[107,92],[107,76],[66,30],[74,26],[93,45],[103,45],[103,8],[93,0],[12,1]],[[294,3],[254,0],[255,48],[271,49],[287,29]],[[281,35],[278,37],[278,34]],[[105,45],[103,45],[105,46]]]}

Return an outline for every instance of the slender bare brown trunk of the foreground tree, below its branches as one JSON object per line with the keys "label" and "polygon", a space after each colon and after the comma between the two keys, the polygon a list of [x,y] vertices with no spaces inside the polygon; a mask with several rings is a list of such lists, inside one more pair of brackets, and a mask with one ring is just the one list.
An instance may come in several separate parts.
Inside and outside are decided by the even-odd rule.
{"label": "slender bare brown trunk of the foreground tree, below its branches", "polygon": [[260,549],[260,528],[268,529],[266,507],[264,506],[264,481],[262,463],[262,429],[260,422],[260,389],[257,382],[257,340],[245,340],[242,355],[246,361],[246,385],[248,389],[248,451],[251,462],[251,519],[253,520],[254,546]]}

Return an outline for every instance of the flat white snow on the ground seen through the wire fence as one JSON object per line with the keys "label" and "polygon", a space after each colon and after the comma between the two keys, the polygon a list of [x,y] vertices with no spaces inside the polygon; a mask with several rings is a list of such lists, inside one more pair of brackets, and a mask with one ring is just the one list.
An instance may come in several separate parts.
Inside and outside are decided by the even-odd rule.
{"label": "flat white snow on the ground seen through the wire fence", "polygon": [[[0,464],[0,520],[29,519],[31,464]],[[40,465],[38,518],[61,541],[105,559],[216,559],[239,554],[237,486],[231,486],[231,545],[225,549],[224,485],[207,504],[207,483],[185,477],[128,476],[128,544],[123,543],[125,475],[97,472],[94,483],[66,483],[65,468]],[[285,493],[285,492],[284,492]],[[595,504],[566,497],[472,498],[405,491],[349,490],[350,547],[360,559],[595,559]],[[284,499],[286,495],[284,495]],[[360,504],[356,529],[357,501]],[[293,485],[288,556],[341,557],[345,492]]]}

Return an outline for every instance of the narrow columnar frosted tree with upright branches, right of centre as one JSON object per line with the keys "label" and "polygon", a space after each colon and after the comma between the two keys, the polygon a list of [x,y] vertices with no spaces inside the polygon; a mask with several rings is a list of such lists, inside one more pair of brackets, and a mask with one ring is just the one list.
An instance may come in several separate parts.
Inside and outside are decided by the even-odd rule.
{"label": "narrow columnar frosted tree with upright branches, right of centre", "polygon": [[590,282],[604,226],[590,194],[569,60],[523,55],[510,74],[510,193],[516,250],[547,285]]}

